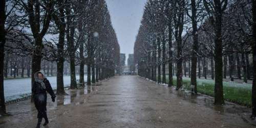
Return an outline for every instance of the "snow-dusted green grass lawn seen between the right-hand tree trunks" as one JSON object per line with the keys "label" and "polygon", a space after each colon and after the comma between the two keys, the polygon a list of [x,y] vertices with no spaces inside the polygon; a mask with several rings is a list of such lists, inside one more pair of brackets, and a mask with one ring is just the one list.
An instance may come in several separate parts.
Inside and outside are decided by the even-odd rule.
{"label": "snow-dusted green grass lawn seen between the right-hand tree trunks", "polygon": [[[176,86],[176,77],[174,85]],[[183,86],[190,86],[190,78],[183,77]],[[168,76],[166,76],[168,83]],[[198,92],[214,96],[215,82],[211,79],[197,79]],[[251,84],[237,82],[223,82],[224,99],[230,102],[251,106]]]}

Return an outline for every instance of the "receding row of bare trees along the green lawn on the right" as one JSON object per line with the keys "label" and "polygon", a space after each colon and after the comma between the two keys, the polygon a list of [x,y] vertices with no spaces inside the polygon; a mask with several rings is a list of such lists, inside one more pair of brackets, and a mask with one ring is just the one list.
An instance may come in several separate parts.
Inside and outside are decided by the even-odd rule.
{"label": "receding row of bare trees along the green lawn on the right", "polygon": [[224,103],[223,78],[228,74],[231,81],[252,79],[252,117],[256,117],[255,3],[148,0],[134,46],[138,74],[165,83],[168,73],[169,87],[176,74],[179,90],[188,72],[197,94],[197,76],[203,70],[205,78],[209,74],[215,79],[215,104]]}

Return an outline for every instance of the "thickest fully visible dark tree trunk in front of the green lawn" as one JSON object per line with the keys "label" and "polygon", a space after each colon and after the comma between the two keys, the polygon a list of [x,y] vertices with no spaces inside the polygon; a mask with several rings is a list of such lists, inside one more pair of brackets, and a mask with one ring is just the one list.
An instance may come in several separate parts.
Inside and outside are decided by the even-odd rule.
{"label": "thickest fully visible dark tree trunk in front of the green lawn", "polygon": [[[204,0],[204,6],[208,12],[210,22],[215,30],[215,104],[223,104],[223,61],[222,61],[222,14],[227,7],[227,0]],[[212,8],[211,8],[212,7]]]}

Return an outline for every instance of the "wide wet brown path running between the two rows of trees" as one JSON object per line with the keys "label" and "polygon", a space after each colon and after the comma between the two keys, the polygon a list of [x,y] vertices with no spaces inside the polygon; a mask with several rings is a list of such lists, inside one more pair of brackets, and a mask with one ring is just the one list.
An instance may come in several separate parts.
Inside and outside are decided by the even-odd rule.
{"label": "wide wet brown path running between the two rows of trees", "polygon": [[[46,127],[256,127],[243,106],[213,106],[210,97],[185,97],[139,76],[115,76],[101,84],[67,91],[56,103],[48,97]],[[0,118],[0,127],[36,125],[36,111],[28,101],[8,109],[14,115]]]}

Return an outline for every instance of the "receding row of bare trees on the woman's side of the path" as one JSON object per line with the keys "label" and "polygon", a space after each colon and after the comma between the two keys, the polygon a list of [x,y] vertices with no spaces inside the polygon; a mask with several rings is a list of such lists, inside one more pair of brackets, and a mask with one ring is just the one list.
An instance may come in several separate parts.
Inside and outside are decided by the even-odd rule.
{"label": "receding row of bare trees on the woman's side of the path", "polygon": [[57,95],[65,94],[63,73],[70,73],[70,89],[78,88],[76,66],[82,86],[84,65],[87,84],[120,72],[120,48],[104,0],[8,0],[0,6],[1,114],[6,113],[4,75],[8,76],[8,69],[12,75],[18,69],[24,75],[27,69],[32,84],[39,70],[56,73]]}

